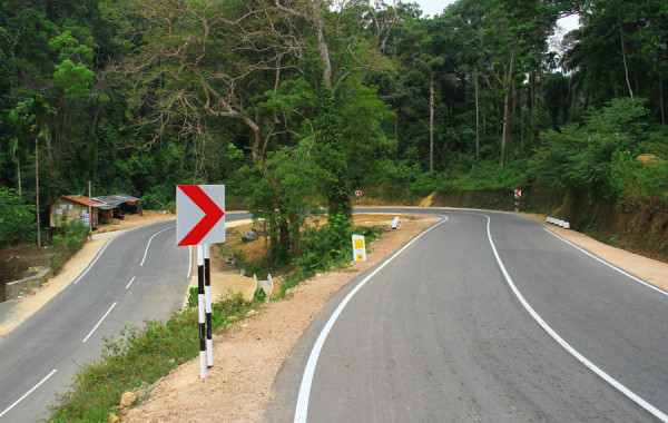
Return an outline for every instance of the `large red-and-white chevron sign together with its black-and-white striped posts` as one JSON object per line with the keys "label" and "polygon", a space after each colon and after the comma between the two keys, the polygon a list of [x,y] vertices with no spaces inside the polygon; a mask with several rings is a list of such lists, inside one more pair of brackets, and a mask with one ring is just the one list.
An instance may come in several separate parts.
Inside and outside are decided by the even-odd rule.
{"label": "large red-and-white chevron sign together with its black-and-white striped posts", "polygon": [[209,244],[225,242],[225,186],[178,185],[176,209],[176,245],[197,246],[199,375],[206,378],[214,365]]}

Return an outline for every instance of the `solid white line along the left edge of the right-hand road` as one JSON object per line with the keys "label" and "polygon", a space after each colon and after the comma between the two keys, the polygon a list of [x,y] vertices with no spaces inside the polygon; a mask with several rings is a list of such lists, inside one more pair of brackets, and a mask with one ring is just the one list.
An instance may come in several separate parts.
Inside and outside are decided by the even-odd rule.
{"label": "solid white line along the left edge of the right-hand road", "polygon": [[434,226],[428,228],[426,230],[424,230],[423,233],[421,233],[420,235],[418,235],[416,237],[411,239],[411,242],[409,242],[406,245],[404,245],[399,252],[394,253],[394,255],[392,255],[392,257],[387,258],[382,265],[376,267],[375,270],[373,270],[369,276],[366,276],[362,282],[360,282],[357,284],[357,286],[355,286],[353,288],[353,291],[351,291],[348,293],[348,295],[346,295],[346,297],[343,298],[341,304],[338,304],[338,307],[336,307],[336,309],[334,311],[332,316],[330,316],[327,324],[325,324],[325,327],[323,327],[323,331],[321,332],[315,344],[313,345],[313,350],[311,350],[311,355],[308,356],[308,361],[306,362],[306,368],[304,370],[304,376],[302,377],[302,384],[299,386],[299,394],[297,396],[297,406],[295,410],[295,420],[294,420],[295,423],[297,423],[297,422],[305,423],[306,422],[306,414],[308,412],[308,397],[311,396],[311,385],[313,383],[313,375],[315,373],[315,366],[317,364],[317,358],[323,348],[323,345],[325,344],[325,340],[327,338],[327,335],[330,334],[330,331],[334,326],[334,323],[336,323],[336,319],[338,318],[338,315],[343,312],[343,308],[345,308],[346,304],[357,293],[357,291],[360,291],[362,288],[362,286],[364,286],[376,273],[379,273],[383,267],[385,267],[387,264],[390,264],[390,262],[392,262],[401,253],[403,253],[404,249],[409,248],[414,242],[416,242],[420,237],[422,237],[422,235],[432,230],[436,226],[445,223],[446,220],[448,220],[448,216],[443,216],[443,220],[439,222]]}

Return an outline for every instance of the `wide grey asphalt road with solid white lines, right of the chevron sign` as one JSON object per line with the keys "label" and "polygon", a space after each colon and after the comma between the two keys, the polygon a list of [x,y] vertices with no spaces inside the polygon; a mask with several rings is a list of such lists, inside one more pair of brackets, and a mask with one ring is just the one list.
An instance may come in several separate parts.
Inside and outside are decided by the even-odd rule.
{"label": "wide grey asphalt road with solid white lines, right of the chevron sign", "polygon": [[403,212],[446,220],[333,296],[267,422],[668,419],[665,292],[524,216]]}

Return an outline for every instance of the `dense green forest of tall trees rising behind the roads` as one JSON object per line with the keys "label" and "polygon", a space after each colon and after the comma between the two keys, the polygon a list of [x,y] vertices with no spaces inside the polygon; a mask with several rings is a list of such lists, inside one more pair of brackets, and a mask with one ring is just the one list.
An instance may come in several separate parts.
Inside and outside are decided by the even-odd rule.
{"label": "dense green forest of tall trees rising behind the roads", "polygon": [[645,210],[644,238],[668,252],[665,1],[459,0],[426,18],[363,0],[0,9],[0,245],[35,225],[38,188],[45,214],[90,180],[145,207],[225,184],[281,254],[301,253],[307,210],[350,214],[355,188],[522,188],[538,210],[588,209],[571,216],[583,228],[606,205]]}

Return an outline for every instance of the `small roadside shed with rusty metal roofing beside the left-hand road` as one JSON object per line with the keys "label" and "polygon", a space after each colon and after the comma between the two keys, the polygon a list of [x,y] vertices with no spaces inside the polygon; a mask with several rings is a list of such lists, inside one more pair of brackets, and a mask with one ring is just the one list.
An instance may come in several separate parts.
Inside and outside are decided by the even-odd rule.
{"label": "small roadside shed with rusty metal roofing beside the left-hand road", "polygon": [[63,195],[51,201],[50,225],[59,227],[63,223],[81,220],[86,225],[92,223],[92,227],[110,224],[114,217],[122,218],[126,214],[141,214],[139,198],[117,194],[111,196],[90,198],[90,210],[88,216],[88,197],[80,195]]}

